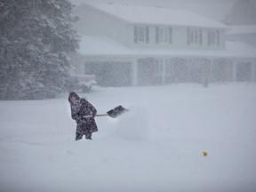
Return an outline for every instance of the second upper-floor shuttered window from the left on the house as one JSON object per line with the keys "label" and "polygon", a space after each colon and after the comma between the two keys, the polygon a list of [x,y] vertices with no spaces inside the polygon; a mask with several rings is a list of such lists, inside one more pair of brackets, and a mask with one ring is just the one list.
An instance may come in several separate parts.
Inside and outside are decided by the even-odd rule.
{"label": "second upper-floor shuttered window from the left on the house", "polygon": [[156,44],[172,44],[172,28],[156,27]]}

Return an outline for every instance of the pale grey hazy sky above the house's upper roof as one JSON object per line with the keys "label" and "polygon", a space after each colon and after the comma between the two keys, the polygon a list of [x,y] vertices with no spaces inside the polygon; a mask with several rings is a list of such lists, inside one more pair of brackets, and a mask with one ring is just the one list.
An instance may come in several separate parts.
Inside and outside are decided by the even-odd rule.
{"label": "pale grey hazy sky above the house's upper roof", "polygon": [[187,9],[214,20],[221,20],[236,0],[69,0],[73,4],[82,2],[137,4]]}

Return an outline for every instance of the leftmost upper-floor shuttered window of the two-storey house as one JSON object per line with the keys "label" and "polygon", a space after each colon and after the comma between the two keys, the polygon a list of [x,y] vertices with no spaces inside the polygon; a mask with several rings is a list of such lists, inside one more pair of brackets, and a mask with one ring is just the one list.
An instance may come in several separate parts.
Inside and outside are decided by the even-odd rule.
{"label": "leftmost upper-floor shuttered window of the two-storey house", "polygon": [[149,43],[149,28],[144,26],[134,27],[134,43]]}

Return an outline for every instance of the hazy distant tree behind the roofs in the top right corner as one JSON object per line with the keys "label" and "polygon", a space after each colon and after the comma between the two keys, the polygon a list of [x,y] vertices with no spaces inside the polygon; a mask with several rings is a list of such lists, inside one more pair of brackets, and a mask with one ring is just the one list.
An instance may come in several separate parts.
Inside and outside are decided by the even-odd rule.
{"label": "hazy distant tree behind the roofs in the top right corner", "polygon": [[228,25],[256,24],[256,1],[237,0],[222,21]]}

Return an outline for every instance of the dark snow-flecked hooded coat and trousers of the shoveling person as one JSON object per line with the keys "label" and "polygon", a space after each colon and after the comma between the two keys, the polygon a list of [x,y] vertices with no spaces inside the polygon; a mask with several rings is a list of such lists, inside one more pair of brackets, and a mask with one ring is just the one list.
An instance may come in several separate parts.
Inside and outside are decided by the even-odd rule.
{"label": "dark snow-flecked hooded coat and trousers of the shoveling person", "polygon": [[[71,97],[75,97],[78,103],[73,104]],[[76,121],[76,140],[81,140],[84,135],[86,139],[92,140],[92,132],[98,131],[94,119],[94,116],[97,114],[96,108],[88,100],[80,99],[76,92],[69,93],[68,101],[71,108],[71,117]]]}

